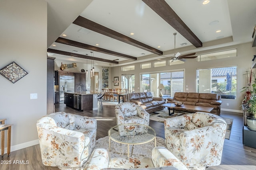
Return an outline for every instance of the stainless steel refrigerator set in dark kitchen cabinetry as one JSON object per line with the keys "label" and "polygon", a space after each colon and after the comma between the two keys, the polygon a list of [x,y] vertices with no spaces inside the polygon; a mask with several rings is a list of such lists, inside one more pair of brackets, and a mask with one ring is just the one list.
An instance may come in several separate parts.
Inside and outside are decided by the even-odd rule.
{"label": "stainless steel refrigerator set in dark kitchen cabinetry", "polygon": [[64,92],[75,92],[75,76],[60,76],[60,103],[64,102]]}

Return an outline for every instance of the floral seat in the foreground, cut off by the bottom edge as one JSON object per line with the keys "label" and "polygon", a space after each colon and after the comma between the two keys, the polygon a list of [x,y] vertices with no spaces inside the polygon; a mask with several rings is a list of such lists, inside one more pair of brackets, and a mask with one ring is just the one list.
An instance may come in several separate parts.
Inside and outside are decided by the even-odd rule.
{"label": "floral seat in the foreground, cut off by the bottom edge", "polygon": [[108,162],[107,150],[95,149],[84,170],[188,170],[180,160],[164,147],[155,147],[152,150],[152,159],[141,156],[138,158],[111,158],[108,165],[106,162]]}

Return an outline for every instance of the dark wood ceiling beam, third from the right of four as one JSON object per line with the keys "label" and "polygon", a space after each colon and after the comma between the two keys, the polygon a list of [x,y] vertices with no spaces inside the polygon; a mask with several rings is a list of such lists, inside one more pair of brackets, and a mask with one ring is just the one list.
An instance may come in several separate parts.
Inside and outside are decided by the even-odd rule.
{"label": "dark wood ceiling beam, third from the right of four", "polygon": [[100,52],[100,53],[105,53],[105,54],[109,54],[109,55],[114,55],[114,56],[122,57],[122,58],[125,58],[125,59],[137,60],[136,57],[133,57],[133,56],[130,56],[130,55],[125,55],[125,54],[122,54],[122,53],[117,53],[115,51],[110,51],[110,50],[107,50],[107,49],[94,47],[92,45],[80,43],[80,42],[73,41],[73,40],[70,40],[70,39],[65,39],[65,38],[62,38],[62,37],[58,37],[58,39],[56,39],[55,42],[66,44],[66,45],[71,45],[71,46],[79,47],[79,48],[83,48],[83,49],[88,49],[88,50],[92,50],[92,51],[96,51],[96,52]]}

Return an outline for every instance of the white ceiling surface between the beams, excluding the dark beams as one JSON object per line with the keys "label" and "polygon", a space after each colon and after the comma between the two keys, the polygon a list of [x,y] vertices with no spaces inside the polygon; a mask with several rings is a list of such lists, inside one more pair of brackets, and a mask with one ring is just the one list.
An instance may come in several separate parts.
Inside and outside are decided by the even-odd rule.
{"label": "white ceiling surface between the beams, excluding the dark beams", "polygon": [[[66,34],[67,36],[63,37],[65,39],[92,46],[99,44],[96,47],[137,57],[137,61],[164,58],[73,24],[72,22],[79,15],[163,51],[163,55],[168,57],[174,55],[173,33],[177,32],[176,53],[180,52],[183,55],[197,52],[199,54],[205,49],[251,42],[252,31],[256,25],[255,0],[211,0],[206,5],[202,4],[202,0],[166,0],[181,20],[202,41],[203,47],[196,48],[142,0],[90,0],[87,3],[84,3],[84,0],[57,0],[58,3],[56,0],[47,0],[47,2],[48,40],[52,41],[48,41],[48,48],[89,56],[91,56],[91,50],[53,41],[58,37],[63,37],[62,34]],[[61,6],[58,6],[59,3]],[[64,10],[60,10],[60,7]],[[218,21],[218,23],[211,24],[212,21]],[[221,32],[216,33],[217,30]],[[134,35],[130,35],[131,32]],[[181,45],[183,43],[186,45]],[[86,63],[86,59],[52,53],[48,53],[48,56]],[[134,63],[132,60],[95,51],[94,57],[108,60],[119,59],[120,64]],[[98,61],[95,64],[109,65],[109,63]]]}

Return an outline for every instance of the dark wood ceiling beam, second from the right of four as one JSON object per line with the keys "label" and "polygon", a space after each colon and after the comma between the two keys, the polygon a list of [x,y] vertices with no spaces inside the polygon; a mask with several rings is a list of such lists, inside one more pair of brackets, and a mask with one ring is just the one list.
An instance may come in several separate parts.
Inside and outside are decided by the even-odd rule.
{"label": "dark wood ceiling beam, second from the right of four", "polygon": [[108,37],[117,39],[119,41],[122,41],[124,43],[133,45],[135,47],[138,47],[140,49],[144,49],[146,51],[149,51],[151,53],[157,54],[157,55],[163,55],[163,52],[155,49],[153,47],[150,47],[149,45],[146,45],[144,43],[141,43],[135,39],[132,39],[130,37],[127,37],[126,35],[123,35],[121,33],[118,33],[112,29],[109,29],[107,27],[104,27],[103,25],[100,25],[94,21],[88,20],[86,18],[83,18],[82,16],[78,16],[78,18],[76,18],[76,20],[73,22],[76,25],[79,25],[81,27],[90,29],[92,31],[95,31],[97,33],[106,35]]}

